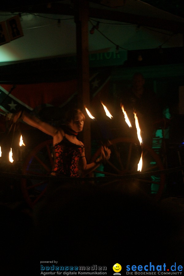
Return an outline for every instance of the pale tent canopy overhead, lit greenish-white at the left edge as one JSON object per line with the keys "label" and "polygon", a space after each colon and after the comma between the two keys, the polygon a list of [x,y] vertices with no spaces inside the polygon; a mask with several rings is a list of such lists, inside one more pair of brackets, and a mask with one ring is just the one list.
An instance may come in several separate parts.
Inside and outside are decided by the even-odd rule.
{"label": "pale tent canopy overhead, lit greenish-white at the left edge", "polygon": [[[1,65],[76,55],[75,9],[71,1],[31,1],[29,6],[16,1],[11,8],[8,3],[0,8],[0,21],[21,15],[23,36],[0,46]],[[117,46],[125,52],[183,46],[184,18],[139,0],[89,1],[89,18],[90,53],[115,52]],[[98,21],[99,28],[90,34]]]}

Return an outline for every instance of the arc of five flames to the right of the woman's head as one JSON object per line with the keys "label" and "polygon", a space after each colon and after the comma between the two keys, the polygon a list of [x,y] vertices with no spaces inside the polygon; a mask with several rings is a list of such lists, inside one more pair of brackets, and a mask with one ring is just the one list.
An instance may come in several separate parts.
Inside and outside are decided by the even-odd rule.
{"label": "arc of five flames to the right of the woman's head", "polygon": [[[102,102],[101,102],[101,103],[102,103]],[[109,112],[109,110],[107,109],[107,107],[106,107],[103,103],[102,103],[102,105],[103,105],[103,108],[104,108],[104,110],[105,110],[105,114],[107,115],[107,117],[109,117],[110,119],[112,119],[113,116],[110,114],[110,112]],[[95,117],[93,117],[93,116],[91,115],[90,111],[87,109],[86,106],[84,106],[84,107],[85,107],[85,109],[86,109],[86,113],[88,114],[88,116],[89,116],[91,119],[94,120]],[[131,125],[131,123],[130,123],[130,121],[129,121],[129,119],[128,119],[127,113],[126,113],[126,111],[125,111],[123,105],[121,105],[121,109],[122,109],[123,114],[124,114],[124,117],[125,117],[125,122],[126,122],[127,125],[129,126],[129,128],[132,128],[132,125]],[[142,137],[141,137],[141,135],[140,135],[141,130],[140,130],[139,121],[138,121],[138,118],[137,118],[137,115],[136,115],[135,112],[134,112],[134,118],[135,118],[135,125],[136,125],[136,129],[137,129],[137,137],[138,137],[138,140],[139,140],[139,142],[140,142],[140,145],[142,145],[143,140],[142,140]],[[143,151],[142,151],[142,153],[141,153],[141,157],[140,157],[140,160],[139,160],[139,163],[138,163],[138,166],[137,166],[137,171],[141,171],[141,170],[142,170],[142,165],[143,165]]]}

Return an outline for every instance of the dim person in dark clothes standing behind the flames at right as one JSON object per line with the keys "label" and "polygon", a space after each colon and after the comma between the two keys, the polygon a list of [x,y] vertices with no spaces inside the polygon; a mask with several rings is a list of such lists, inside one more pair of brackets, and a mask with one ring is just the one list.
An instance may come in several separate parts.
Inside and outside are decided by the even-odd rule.
{"label": "dim person in dark clothes standing behind the flames at right", "polygon": [[156,94],[145,87],[145,79],[141,73],[133,75],[132,86],[121,95],[121,105],[124,106],[132,125],[135,125],[133,112],[136,113],[143,142],[151,146],[153,125],[162,118],[162,111]]}

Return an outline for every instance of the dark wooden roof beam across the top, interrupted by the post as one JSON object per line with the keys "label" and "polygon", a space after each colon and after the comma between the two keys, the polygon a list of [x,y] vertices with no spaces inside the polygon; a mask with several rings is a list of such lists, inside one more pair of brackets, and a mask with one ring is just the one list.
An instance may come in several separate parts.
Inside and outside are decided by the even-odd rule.
{"label": "dark wooden roof beam across the top, interrupted by the post", "polygon": [[[89,1],[86,1],[89,2]],[[5,10],[0,7],[0,11],[12,12],[12,10]],[[75,15],[75,8],[71,5],[54,2],[51,6],[47,4],[25,6],[14,8],[14,13],[47,13],[47,14],[61,14],[61,15]],[[102,8],[89,8],[89,17],[97,19],[105,19],[110,21],[118,21],[140,26],[147,26],[150,28],[162,29],[171,31],[173,33],[184,33],[184,24],[180,21],[166,20],[162,18],[149,17],[145,15],[137,15],[132,13],[124,13],[117,10],[109,10],[105,6]]]}

